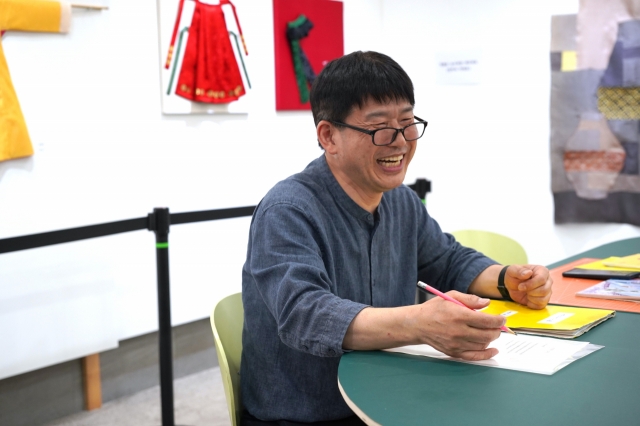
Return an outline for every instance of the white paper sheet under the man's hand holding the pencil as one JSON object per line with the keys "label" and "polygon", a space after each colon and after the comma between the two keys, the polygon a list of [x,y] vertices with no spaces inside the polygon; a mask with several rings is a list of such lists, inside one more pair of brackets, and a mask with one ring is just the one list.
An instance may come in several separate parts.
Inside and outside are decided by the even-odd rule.
{"label": "white paper sheet under the man's hand holding the pencil", "polygon": [[429,345],[402,346],[385,350],[484,365],[486,367],[550,375],[576,359],[602,348],[602,346],[591,345],[589,342],[567,341],[552,337],[527,336],[523,334],[514,336],[509,333],[502,333],[489,347],[497,348],[500,352],[495,357],[484,361],[465,361],[453,358]]}

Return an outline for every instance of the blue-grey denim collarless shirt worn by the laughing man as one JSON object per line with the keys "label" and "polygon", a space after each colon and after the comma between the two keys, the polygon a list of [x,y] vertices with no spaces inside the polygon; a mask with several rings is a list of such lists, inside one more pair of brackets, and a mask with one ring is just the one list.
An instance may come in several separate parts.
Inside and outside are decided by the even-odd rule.
{"label": "blue-grey denim collarless shirt worn by the laughing man", "polygon": [[443,233],[410,188],[386,192],[370,214],[324,155],[314,160],[273,187],[251,222],[242,269],[245,408],[263,420],[353,415],[337,373],[358,312],[413,304],[418,279],[466,292],[494,263]]}

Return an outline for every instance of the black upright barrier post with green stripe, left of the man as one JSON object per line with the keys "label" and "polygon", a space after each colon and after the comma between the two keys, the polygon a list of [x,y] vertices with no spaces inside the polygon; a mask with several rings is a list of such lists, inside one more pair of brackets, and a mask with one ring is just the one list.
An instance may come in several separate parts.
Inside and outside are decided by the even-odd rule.
{"label": "black upright barrier post with green stripe, left of the man", "polygon": [[155,208],[148,216],[149,230],[156,234],[158,274],[158,341],[160,356],[160,402],[162,425],[175,426],[173,416],[173,345],[171,344],[171,295],[169,287],[168,208]]}

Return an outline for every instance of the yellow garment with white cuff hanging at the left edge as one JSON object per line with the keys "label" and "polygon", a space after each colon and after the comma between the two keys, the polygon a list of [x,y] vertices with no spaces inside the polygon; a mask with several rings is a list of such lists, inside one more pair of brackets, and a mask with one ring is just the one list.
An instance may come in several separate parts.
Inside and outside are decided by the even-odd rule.
{"label": "yellow garment with white cuff hanging at the left edge", "polygon": [[[67,3],[51,0],[0,0],[0,30],[66,33],[71,20]],[[0,161],[28,157],[33,147],[11,82],[0,41]]]}

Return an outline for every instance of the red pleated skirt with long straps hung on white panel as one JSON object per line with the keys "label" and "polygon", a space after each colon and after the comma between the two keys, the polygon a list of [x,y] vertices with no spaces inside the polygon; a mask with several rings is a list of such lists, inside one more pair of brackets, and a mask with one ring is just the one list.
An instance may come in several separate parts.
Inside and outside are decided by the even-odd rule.
{"label": "red pleated skirt with long straps hung on white panel", "polygon": [[[236,13],[235,6],[229,0],[221,0],[219,4],[207,4],[199,0],[195,1],[195,9],[189,27],[180,31],[180,19],[184,0],[180,0],[173,34],[165,68],[169,68],[172,59],[174,70],[172,71],[168,93],[173,84],[175,68],[180,56],[180,50],[185,33],[188,34],[187,43],[182,57],[182,66],[176,83],[175,94],[193,102],[226,104],[239,99],[246,93],[240,68],[236,61],[236,55],[231,44],[233,37],[239,58],[248,82],[248,74],[237,41],[238,35],[227,29],[222,7],[230,5],[240,33],[243,51],[247,54],[247,48],[242,35],[242,28]],[[174,48],[179,34],[178,46]]]}

